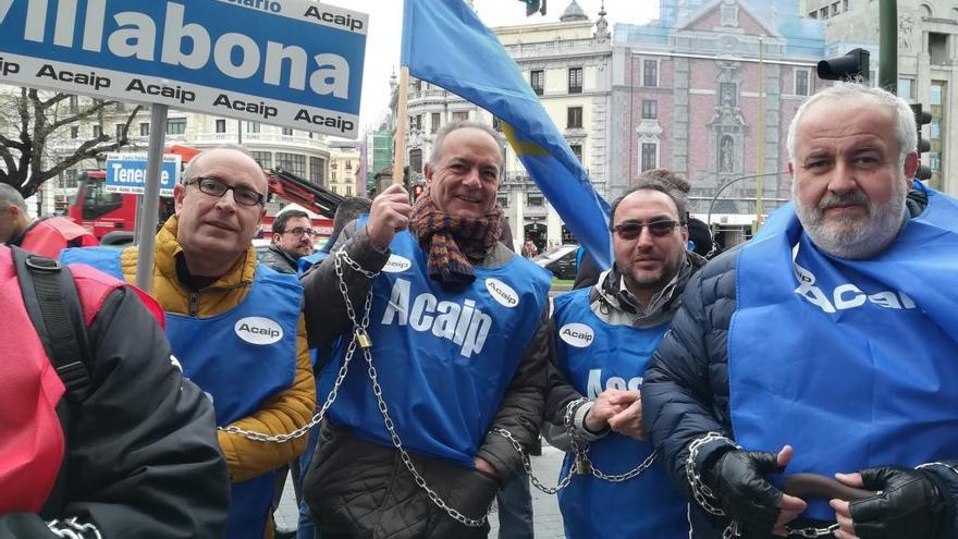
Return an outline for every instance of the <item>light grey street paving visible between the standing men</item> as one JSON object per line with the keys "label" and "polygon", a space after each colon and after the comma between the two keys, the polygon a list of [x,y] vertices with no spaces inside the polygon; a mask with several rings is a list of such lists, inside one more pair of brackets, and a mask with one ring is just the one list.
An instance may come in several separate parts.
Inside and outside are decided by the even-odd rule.
{"label": "light grey street paving visible between the standing men", "polygon": [[[537,477],[545,483],[546,487],[555,486],[558,479],[558,470],[562,467],[563,452],[549,445],[543,441],[542,456],[532,457],[532,469],[536,470]],[[562,531],[562,517],[558,514],[558,503],[554,495],[549,495],[542,491],[532,489],[532,513],[536,520],[536,539],[556,539],[564,537]],[[296,522],[298,513],[296,511],[296,501],[293,494],[293,483],[286,479],[286,487],[283,489],[283,500],[280,502],[280,509],[275,514],[277,525],[280,529],[288,529]],[[493,504],[493,511],[489,515],[489,524],[492,531],[489,534],[490,539],[499,537],[499,515]]]}

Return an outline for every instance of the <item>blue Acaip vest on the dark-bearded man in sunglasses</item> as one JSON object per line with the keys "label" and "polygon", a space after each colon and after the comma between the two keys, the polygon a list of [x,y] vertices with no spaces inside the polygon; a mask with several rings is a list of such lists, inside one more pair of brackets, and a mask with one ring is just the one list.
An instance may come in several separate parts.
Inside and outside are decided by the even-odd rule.
{"label": "blue Acaip vest on the dark-bearded man in sunglasses", "polygon": [[[590,291],[580,289],[554,301],[560,370],[589,399],[606,389],[641,389],[649,357],[671,323],[649,329],[609,324],[589,308]],[[589,458],[606,474],[624,474],[653,451],[648,441],[611,432],[592,442]],[[569,474],[573,464],[573,455],[567,454],[562,477]],[[668,482],[661,458],[624,482],[577,475],[560,491],[558,507],[570,539],[684,539],[689,534],[686,501]]]}

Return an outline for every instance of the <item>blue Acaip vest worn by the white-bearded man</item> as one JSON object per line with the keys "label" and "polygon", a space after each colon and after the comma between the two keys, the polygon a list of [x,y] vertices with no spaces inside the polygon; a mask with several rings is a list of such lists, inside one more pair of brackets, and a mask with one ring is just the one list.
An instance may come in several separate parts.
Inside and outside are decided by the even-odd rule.
{"label": "blue Acaip vest worn by the white-bearded man", "polygon": [[[826,476],[955,456],[958,204],[929,195],[868,260],[820,252],[791,205],[741,250],[728,335],[738,443],[791,444],[787,473]],[[809,501],[806,516],[835,518]]]}

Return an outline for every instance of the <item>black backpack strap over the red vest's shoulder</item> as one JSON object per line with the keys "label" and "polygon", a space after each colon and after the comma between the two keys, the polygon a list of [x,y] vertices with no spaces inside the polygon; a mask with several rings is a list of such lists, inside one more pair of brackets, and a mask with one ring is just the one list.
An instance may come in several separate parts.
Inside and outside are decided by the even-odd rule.
{"label": "black backpack strap over the red vest's shoulder", "polygon": [[57,260],[11,246],[23,303],[50,363],[74,403],[90,387],[89,353],[83,307],[73,275]]}

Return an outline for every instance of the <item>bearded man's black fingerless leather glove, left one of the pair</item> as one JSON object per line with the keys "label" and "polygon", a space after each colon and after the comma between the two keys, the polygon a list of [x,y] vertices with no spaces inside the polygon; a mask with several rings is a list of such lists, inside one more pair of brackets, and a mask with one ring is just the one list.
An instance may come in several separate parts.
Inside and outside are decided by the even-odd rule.
{"label": "bearded man's black fingerless leather glove, left one of the pair", "polygon": [[782,491],[763,477],[784,471],[775,453],[732,450],[705,473],[722,510],[739,522],[745,537],[767,537],[778,519]]}

